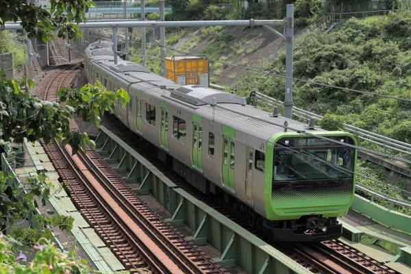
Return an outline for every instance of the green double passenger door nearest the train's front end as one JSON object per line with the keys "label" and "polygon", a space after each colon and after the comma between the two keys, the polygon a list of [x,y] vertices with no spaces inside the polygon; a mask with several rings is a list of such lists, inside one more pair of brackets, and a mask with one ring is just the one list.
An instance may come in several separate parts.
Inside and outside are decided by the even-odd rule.
{"label": "green double passenger door nearest the train's front end", "polygon": [[223,186],[235,192],[234,189],[234,161],[235,161],[235,144],[234,138],[236,131],[232,128],[223,126],[223,162],[222,175]]}

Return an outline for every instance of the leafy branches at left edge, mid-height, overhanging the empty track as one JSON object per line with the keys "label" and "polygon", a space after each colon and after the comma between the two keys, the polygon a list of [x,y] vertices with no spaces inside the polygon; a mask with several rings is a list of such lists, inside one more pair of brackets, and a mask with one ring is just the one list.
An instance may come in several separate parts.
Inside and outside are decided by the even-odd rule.
{"label": "leafy branches at left edge, mid-height, overhanging the empty track", "polygon": [[[29,88],[34,82],[28,81]],[[42,101],[23,90],[26,82],[1,79],[0,82],[0,138],[3,141],[23,142],[24,138],[35,141],[52,138],[71,144],[73,151],[91,142],[87,134],[71,132],[70,119],[73,113],[81,114],[88,123],[99,125],[100,115],[112,112],[113,99],[128,100],[126,92],[107,92],[103,86],[86,86],[81,90],[62,88],[59,95],[63,108],[57,102]],[[74,100],[72,102],[66,100]],[[99,101],[100,100],[100,101]],[[7,103],[5,103],[7,102]]]}

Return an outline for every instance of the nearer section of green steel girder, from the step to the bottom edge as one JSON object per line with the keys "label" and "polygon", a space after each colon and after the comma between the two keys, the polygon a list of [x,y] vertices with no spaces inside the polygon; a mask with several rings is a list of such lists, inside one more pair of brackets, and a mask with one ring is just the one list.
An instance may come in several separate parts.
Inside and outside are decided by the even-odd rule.
{"label": "nearer section of green steel girder, from the step to the bottom edge", "polygon": [[260,240],[223,214],[175,188],[179,201],[170,222],[186,225],[197,245],[210,245],[221,254],[214,258],[222,266],[238,266],[246,273],[310,273],[271,245]]}

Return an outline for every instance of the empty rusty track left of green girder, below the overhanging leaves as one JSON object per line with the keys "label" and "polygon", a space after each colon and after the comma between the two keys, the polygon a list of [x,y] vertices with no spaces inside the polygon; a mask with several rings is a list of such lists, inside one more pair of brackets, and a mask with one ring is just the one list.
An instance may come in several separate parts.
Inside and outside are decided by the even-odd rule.
{"label": "empty rusty track left of green girder, below the overhanging leaves", "polygon": [[55,142],[44,147],[75,206],[126,269],[227,273],[148,208],[95,151],[71,158],[71,149]]}

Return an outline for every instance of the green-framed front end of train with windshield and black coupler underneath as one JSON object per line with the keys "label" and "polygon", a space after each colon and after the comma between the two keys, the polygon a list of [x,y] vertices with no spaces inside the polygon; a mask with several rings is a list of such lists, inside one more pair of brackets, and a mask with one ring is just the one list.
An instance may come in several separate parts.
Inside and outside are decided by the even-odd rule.
{"label": "green-framed front end of train with windshield and black coupler underneath", "polygon": [[338,238],[356,182],[356,138],[347,132],[282,132],[266,150],[263,230],[282,242]]}

